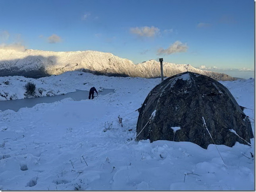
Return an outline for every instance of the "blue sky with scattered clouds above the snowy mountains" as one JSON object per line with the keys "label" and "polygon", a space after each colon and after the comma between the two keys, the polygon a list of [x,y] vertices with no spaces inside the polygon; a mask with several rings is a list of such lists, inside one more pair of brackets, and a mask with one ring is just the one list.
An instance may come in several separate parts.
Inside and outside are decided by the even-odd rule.
{"label": "blue sky with scattered clouds above the snowy mountains", "polygon": [[253,0],[0,0],[0,46],[111,52],[254,77]]}

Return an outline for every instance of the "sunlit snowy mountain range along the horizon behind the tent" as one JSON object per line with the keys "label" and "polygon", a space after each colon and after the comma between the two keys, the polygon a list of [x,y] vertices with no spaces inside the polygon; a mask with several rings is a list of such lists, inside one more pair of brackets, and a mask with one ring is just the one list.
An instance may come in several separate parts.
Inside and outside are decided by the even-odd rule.
{"label": "sunlit snowy mountain range along the horizon behind the tent", "polygon": [[[74,70],[106,76],[156,78],[161,75],[160,64],[155,60],[134,64],[128,59],[99,51],[53,52],[0,49],[0,76],[17,75],[39,78]],[[199,70],[189,64],[163,62],[164,76],[173,76],[186,71],[206,75],[218,81],[236,80],[226,74]]]}

